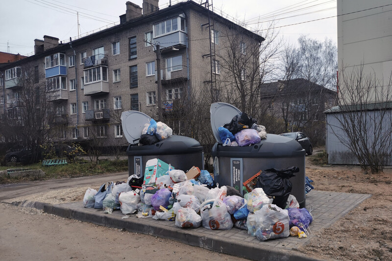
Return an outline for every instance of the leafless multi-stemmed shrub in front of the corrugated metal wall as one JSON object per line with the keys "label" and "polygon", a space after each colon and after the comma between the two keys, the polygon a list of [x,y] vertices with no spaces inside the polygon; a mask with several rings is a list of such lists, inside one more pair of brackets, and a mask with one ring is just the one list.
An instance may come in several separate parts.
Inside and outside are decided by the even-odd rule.
{"label": "leafless multi-stemmed shrub in front of the corrugated metal wall", "polygon": [[332,109],[328,127],[365,172],[380,172],[392,164],[391,77],[383,82],[361,65],[343,69],[339,86],[339,107]]}

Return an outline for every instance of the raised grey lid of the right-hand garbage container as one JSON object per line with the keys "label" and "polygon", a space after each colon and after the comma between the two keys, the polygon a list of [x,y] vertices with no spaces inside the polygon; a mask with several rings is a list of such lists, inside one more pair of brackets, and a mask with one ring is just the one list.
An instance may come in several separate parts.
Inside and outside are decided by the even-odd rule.
{"label": "raised grey lid of the right-hand garbage container", "polygon": [[211,128],[214,134],[215,140],[218,143],[222,143],[221,137],[219,137],[219,127],[226,123],[230,123],[234,116],[242,113],[237,107],[225,103],[225,102],[214,102],[210,108],[210,119]]}

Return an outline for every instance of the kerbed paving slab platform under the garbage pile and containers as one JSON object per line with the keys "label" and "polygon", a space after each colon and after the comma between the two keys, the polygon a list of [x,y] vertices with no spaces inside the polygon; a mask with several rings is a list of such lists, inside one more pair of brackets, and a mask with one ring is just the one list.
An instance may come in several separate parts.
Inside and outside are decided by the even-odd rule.
{"label": "kerbed paving slab platform under the garbage pile and containers", "polygon": [[[312,190],[306,195],[306,209],[310,210],[314,220],[310,225],[312,233],[331,226],[340,217],[369,198],[370,194],[341,193]],[[83,202],[50,205],[41,202],[22,202],[20,205],[43,209],[46,213],[91,222],[97,225],[126,229],[130,232],[143,233],[156,237],[170,238],[192,246],[211,251],[247,258],[250,260],[315,260],[296,251],[301,245],[312,240],[307,238],[287,237],[260,241],[249,236],[247,231],[209,230],[203,227],[181,229],[174,221],[137,218],[136,215],[124,216],[121,211],[104,214],[101,209],[84,208]]]}

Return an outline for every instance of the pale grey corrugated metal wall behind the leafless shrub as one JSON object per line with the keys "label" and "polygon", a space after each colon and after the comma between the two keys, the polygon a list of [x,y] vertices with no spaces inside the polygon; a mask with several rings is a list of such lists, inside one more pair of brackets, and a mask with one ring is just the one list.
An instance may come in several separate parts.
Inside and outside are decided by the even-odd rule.
{"label": "pale grey corrugated metal wall behind the leafless shrub", "polygon": [[[387,112],[391,114],[391,111]],[[369,119],[377,119],[380,117],[380,111],[371,111],[368,112],[368,129],[363,131],[367,131],[368,133],[368,144],[371,144],[374,141],[374,132],[372,132],[372,128],[374,125],[371,124]],[[341,140],[346,141],[347,135],[341,128],[341,123],[339,119],[342,120],[342,113],[333,113],[326,114],[327,120],[327,139],[326,139],[326,152],[328,153],[328,163],[329,164],[343,164],[343,165],[358,165],[359,162],[356,159],[355,155],[349,150],[347,146],[345,146]],[[385,117],[382,121],[382,128],[388,129],[391,128],[391,117]],[[373,134],[372,134],[373,133]],[[382,144],[380,144],[382,145]],[[390,148],[392,149],[392,148]],[[392,158],[389,159],[389,163],[387,165],[392,165]]]}

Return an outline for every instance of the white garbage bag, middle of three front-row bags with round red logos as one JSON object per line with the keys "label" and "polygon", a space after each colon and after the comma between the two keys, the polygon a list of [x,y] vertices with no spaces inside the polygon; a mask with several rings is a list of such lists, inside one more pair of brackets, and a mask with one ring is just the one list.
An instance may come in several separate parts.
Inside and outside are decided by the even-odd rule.
{"label": "white garbage bag, middle of three front-row bags with round red logos", "polygon": [[227,212],[226,205],[219,198],[204,201],[200,205],[203,227],[212,230],[230,230],[233,221]]}

